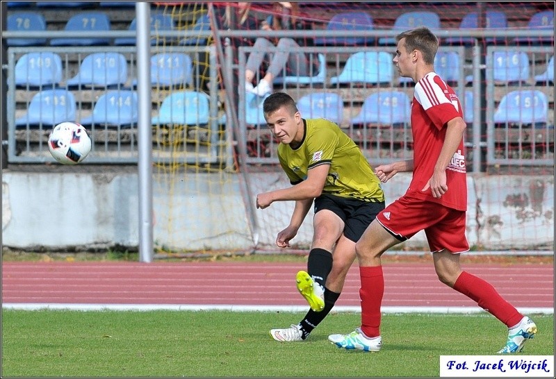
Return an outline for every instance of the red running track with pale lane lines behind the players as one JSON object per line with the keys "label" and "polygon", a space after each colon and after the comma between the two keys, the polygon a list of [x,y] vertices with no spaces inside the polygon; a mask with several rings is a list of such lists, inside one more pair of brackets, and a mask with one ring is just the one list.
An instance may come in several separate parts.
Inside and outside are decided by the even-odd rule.
{"label": "red running track with pale lane lines behind the players", "polygon": [[[298,263],[3,262],[3,307],[41,305],[237,305],[305,309]],[[480,311],[441,284],[432,263],[384,264],[383,310]],[[522,312],[554,312],[554,266],[467,264]],[[359,310],[359,269],[349,271],[336,310]],[[295,310],[295,309],[294,309]],[[426,310],[425,310],[426,311]]]}

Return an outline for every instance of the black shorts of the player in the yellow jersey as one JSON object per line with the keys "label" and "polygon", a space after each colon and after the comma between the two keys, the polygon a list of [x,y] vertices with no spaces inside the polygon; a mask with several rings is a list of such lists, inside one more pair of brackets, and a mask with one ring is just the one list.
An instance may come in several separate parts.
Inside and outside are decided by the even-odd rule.
{"label": "black shorts of the player in the yellow jersey", "polygon": [[329,194],[322,194],[315,199],[315,213],[327,209],[338,214],[345,224],[343,235],[353,242],[359,241],[384,206],[384,201],[362,201]]}

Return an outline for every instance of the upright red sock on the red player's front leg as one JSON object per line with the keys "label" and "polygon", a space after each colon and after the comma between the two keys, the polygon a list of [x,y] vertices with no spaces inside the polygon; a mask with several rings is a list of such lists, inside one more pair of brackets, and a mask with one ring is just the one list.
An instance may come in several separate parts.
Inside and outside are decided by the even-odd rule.
{"label": "upright red sock on the red player's front leg", "polygon": [[359,267],[361,276],[361,331],[367,337],[380,335],[380,305],[384,295],[384,276],[382,266]]}

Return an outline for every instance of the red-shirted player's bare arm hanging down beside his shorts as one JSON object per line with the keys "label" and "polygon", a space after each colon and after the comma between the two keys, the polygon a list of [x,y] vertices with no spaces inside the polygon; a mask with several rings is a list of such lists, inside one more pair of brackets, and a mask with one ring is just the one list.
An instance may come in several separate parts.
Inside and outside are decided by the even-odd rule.
{"label": "red-shirted player's bare arm hanging down beside his shorts", "polygon": [[432,196],[439,198],[446,191],[448,191],[448,185],[446,185],[446,167],[450,165],[450,160],[454,156],[461,139],[464,137],[464,130],[466,128],[466,123],[461,117],[455,117],[448,121],[446,126],[446,136],[438,160],[436,160],[436,165],[434,165],[434,171],[432,171],[432,177],[429,183],[423,191],[430,187]]}

